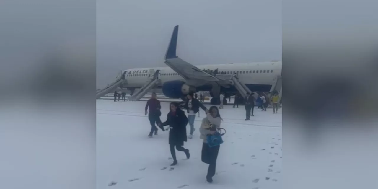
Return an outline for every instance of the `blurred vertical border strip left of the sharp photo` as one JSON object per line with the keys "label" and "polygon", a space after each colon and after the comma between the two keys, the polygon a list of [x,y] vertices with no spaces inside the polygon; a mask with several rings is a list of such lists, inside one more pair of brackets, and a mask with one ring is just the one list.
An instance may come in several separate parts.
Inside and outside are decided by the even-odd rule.
{"label": "blurred vertical border strip left of the sharp photo", "polygon": [[96,1],[0,2],[0,188],[96,188]]}

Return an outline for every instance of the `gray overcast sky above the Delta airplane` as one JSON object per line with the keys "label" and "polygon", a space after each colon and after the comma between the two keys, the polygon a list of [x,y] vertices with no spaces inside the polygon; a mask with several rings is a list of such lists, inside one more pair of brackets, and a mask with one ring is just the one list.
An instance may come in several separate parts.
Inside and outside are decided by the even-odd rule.
{"label": "gray overcast sky above the Delta airplane", "polygon": [[166,66],[175,25],[177,54],[194,65],[281,60],[281,18],[281,0],[97,0],[97,86]]}

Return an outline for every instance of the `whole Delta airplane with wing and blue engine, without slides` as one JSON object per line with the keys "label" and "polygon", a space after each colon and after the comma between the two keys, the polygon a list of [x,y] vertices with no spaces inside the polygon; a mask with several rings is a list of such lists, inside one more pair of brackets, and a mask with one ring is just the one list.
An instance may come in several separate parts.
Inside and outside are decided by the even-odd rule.
{"label": "whole Delta airplane with wing and blue engine, without slides", "polygon": [[238,93],[229,79],[234,74],[249,90],[258,92],[270,91],[274,79],[281,75],[281,61],[194,66],[176,56],[177,37],[178,26],[175,26],[165,56],[164,63],[168,67],[123,71],[127,89],[134,91],[155,77],[160,82],[154,88],[161,88],[168,98],[182,98],[189,91],[209,91],[211,104],[219,104],[220,93],[225,94],[226,98]]}

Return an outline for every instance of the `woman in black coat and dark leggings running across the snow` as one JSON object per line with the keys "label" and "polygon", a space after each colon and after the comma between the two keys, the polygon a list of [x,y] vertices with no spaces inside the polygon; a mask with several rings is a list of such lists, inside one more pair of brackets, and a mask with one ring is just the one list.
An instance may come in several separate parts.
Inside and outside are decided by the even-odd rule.
{"label": "woman in black coat and dark leggings running across the snow", "polygon": [[188,118],[178,106],[177,102],[171,102],[169,104],[170,112],[167,115],[167,121],[161,123],[161,127],[169,125],[169,147],[174,160],[171,166],[177,165],[175,146],[178,151],[185,152],[187,159],[190,157],[189,150],[183,147],[184,142],[187,141],[186,125]]}

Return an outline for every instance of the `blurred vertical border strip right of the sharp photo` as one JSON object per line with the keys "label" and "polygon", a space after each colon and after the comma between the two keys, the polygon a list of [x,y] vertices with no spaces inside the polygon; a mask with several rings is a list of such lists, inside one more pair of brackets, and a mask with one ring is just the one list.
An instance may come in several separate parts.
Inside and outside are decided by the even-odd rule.
{"label": "blurred vertical border strip right of the sharp photo", "polygon": [[377,187],[376,7],[283,1],[283,188]]}

